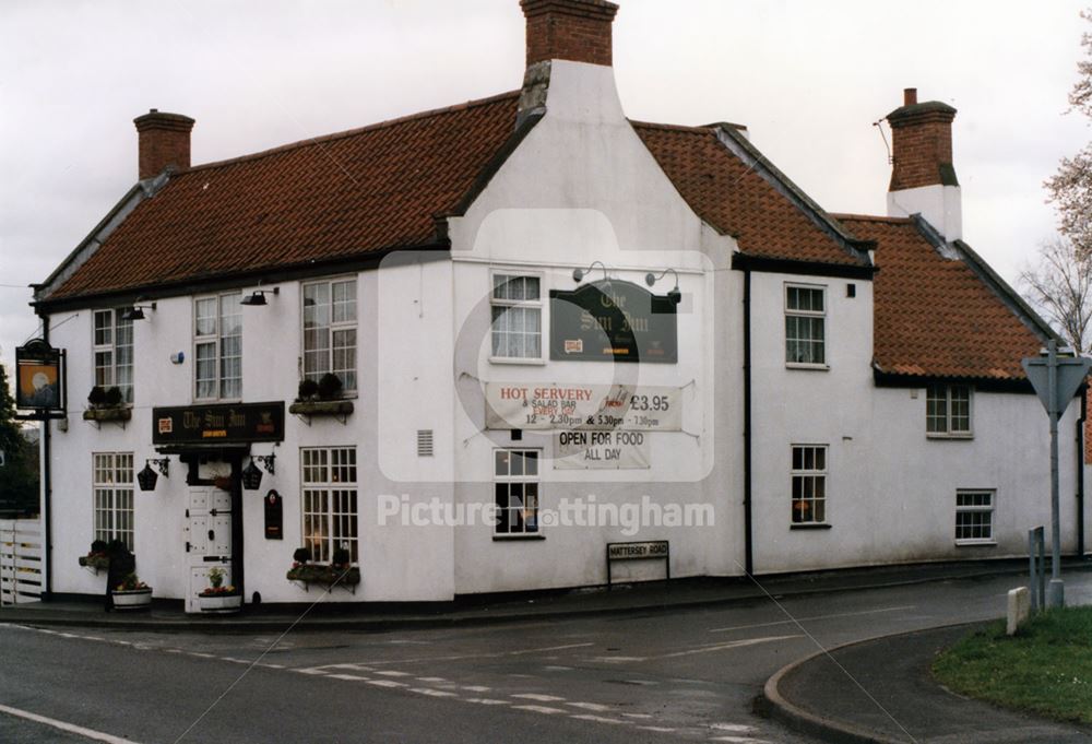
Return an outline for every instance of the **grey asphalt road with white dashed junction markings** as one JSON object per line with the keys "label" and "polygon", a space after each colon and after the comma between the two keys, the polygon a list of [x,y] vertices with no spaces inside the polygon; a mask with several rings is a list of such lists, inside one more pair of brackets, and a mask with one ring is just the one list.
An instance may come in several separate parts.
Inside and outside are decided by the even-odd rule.
{"label": "grey asphalt road with white dashed junction markings", "polygon": [[[370,635],[9,626],[0,705],[140,744],[797,744],[808,740],[750,711],[778,669],[820,647],[999,616],[1018,582]],[[1092,603],[1092,574],[1066,590],[1070,604]],[[0,712],[0,741],[81,741],[66,736]]]}

